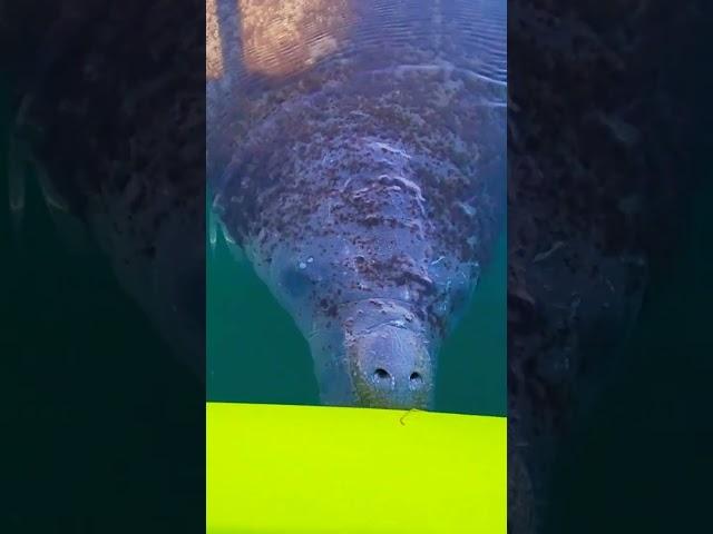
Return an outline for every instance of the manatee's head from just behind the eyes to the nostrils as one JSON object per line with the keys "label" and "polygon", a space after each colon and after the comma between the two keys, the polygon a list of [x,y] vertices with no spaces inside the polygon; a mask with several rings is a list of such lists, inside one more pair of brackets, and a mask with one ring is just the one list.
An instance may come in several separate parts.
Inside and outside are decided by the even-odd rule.
{"label": "manatee's head from just behind the eyes to the nostrils", "polygon": [[440,343],[470,294],[472,266],[384,230],[307,233],[256,261],[309,342],[325,404],[430,406]]}

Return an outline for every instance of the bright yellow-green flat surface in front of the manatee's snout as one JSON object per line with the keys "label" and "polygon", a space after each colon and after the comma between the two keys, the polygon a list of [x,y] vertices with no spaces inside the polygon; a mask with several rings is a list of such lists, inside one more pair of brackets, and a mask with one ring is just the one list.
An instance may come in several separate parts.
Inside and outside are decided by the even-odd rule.
{"label": "bright yellow-green flat surface in front of the manatee's snout", "polygon": [[206,411],[208,534],[506,533],[505,417]]}

